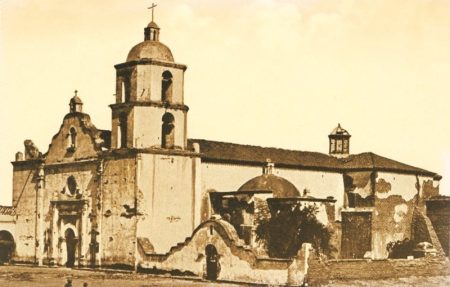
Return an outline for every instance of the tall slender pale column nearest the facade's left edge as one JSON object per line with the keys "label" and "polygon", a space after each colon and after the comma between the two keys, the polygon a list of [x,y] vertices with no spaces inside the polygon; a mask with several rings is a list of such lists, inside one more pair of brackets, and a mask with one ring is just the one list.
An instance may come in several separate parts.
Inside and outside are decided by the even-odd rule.
{"label": "tall slender pale column nearest the facade's left edge", "polygon": [[44,165],[38,169],[38,182],[36,191],[36,263],[42,266],[44,259]]}

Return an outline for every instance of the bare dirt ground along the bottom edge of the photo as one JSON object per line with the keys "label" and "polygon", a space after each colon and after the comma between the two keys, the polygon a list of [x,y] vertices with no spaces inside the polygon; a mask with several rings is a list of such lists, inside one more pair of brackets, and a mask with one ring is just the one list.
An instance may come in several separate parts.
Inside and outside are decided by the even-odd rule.
{"label": "bare dirt ground along the bottom edge of the photo", "polygon": [[[232,283],[212,283],[196,278],[174,279],[164,276],[154,276],[147,274],[133,274],[116,271],[91,271],[69,268],[49,268],[31,266],[0,266],[0,286],[32,286],[32,287],[64,287],[67,279],[73,280],[73,287],[82,287],[83,283],[88,283],[89,287],[151,287],[151,286],[252,286]],[[253,285],[255,286],[255,285]],[[366,281],[342,281],[330,282],[322,286],[403,286],[403,287],[440,287],[450,286],[450,276],[436,277],[409,277],[386,280],[366,280]]]}

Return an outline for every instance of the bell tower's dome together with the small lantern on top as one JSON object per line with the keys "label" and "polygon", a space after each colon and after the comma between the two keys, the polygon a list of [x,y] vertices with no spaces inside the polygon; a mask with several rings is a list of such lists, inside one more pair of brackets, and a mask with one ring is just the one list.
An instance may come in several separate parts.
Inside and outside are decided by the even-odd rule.
{"label": "bell tower's dome together with the small lantern on top", "polygon": [[128,53],[127,62],[155,59],[174,62],[170,49],[159,42],[159,26],[153,20],[144,29],[144,42],[134,46]]}

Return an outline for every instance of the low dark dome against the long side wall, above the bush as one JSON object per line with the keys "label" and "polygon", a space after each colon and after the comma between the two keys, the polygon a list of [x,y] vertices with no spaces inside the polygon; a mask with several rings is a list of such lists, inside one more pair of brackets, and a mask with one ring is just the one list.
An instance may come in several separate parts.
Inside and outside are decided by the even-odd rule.
{"label": "low dark dome against the long side wall, above the bush", "polygon": [[272,191],[275,198],[300,197],[300,192],[295,185],[273,174],[263,174],[250,179],[238,191]]}

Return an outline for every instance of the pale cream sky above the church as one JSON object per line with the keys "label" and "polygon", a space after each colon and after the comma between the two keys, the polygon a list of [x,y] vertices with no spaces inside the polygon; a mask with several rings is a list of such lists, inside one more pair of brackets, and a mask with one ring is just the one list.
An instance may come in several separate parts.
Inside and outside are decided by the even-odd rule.
{"label": "pale cream sky above the church", "polygon": [[[0,0],[0,204],[14,154],[42,152],[77,89],[111,129],[114,65],[151,1]],[[450,194],[450,0],[160,0],[186,64],[188,136],[328,152],[338,124],[372,151],[443,176]]]}

